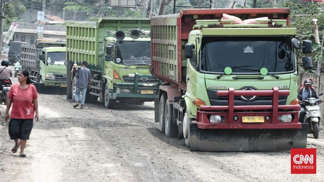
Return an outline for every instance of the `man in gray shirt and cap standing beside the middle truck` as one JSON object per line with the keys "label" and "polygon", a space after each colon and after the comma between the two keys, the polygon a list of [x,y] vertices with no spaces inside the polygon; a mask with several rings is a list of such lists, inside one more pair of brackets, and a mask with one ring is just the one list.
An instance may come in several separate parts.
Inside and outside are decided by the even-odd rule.
{"label": "man in gray shirt and cap standing beside the middle truck", "polygon": [[[90,70],[87,68],[87,61],[82,62],[82,67],[79,68],[75,74],[76,77],[76,88],[74,92],[74,98],[76,104],[73,107],[77,107],[80,104],[79,95],[81,92],[81,106],[80,109],[83,109],[84,101],[86,99],[87,88],[90,89],[90,79],[92,78]],[[75,71],[75,67],[73,70]]]}

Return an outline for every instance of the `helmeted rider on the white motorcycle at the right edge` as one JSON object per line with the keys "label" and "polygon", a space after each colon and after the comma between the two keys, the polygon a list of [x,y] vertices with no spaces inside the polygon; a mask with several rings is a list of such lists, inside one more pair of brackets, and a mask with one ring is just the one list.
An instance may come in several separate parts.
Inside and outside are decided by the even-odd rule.
{"label": "helmeted rider on the white motorcycle at the right edge", "polygon": [[[304,81],[303,87],[298,91],[298,94],[302,95],[302,98],[298,98],[300,99],[299,100],[300,103],[307,98],[311,98],[311,97],[319,98],[319,94],[315,91],[312,85],[313,85],[312,79],[306,79]],[[302,106],[300,111],[301,112],[299,114],[299,122],[303,123],[304,117],[306,115],[305,107]]]}

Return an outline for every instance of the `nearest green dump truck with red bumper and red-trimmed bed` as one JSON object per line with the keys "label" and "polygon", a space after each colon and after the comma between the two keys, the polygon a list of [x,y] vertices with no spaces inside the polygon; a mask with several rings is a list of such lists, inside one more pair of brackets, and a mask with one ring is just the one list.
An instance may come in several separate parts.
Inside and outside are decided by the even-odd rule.
{"label": "nearest green dump truck with red bumper and red-trimmed bed", "polygon": [[[160,130],[192,151],[306,148],[289,8],[182,9],[151,18]],[[312,52],[303,41],[303,53]],[[305,66],[312,64],[303,57]]]}

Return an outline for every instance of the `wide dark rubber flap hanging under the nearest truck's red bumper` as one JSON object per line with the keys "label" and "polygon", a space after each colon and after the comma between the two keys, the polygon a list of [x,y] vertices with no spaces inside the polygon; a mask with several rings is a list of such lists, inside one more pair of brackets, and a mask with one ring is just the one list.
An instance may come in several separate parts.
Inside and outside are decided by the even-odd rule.
{"label": "wide dark rubber flap hanging under the nearest truck's red bumper", "polygon": [[306,148],[307,124],[301,129],[200,129],[190,124],[191,151],[284,151]]}

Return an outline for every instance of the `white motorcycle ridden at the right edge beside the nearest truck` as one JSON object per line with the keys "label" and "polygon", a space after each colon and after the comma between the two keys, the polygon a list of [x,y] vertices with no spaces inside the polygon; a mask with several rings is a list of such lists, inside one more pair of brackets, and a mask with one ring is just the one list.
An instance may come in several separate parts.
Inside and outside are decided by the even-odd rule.
{"label": "white motorcycle ridden at the right edge beside the nearest truck", "polygon": [[[323,95],[321,93],[319,96]],[[302,98],[302,95],[298,95]],[[301,99],[300,99],[301,100]],[[304,123],[308,123],[308,133],[313,133],[314,138],[319,138],[320,133],[320,120],[321,120],[321,110],[319,103],[322,103],[321,98],[306,98],[300,103],[301,107],[305,108],[306,115],[303,119]]]}

